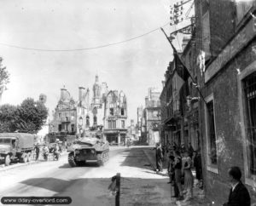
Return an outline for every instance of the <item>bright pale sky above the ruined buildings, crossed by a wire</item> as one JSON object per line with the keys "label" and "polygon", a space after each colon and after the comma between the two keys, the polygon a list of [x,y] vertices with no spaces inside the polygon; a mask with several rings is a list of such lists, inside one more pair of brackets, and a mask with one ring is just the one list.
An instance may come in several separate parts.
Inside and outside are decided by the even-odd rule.
{"label": "bright pale sky above the ruined buildings, crossed by a wire", "polygon": [[[158,30],[103,49],[42,52],[15,49],[81,49],[136,37],[170,21],[172,0],[12,0],[2,1],[0,56],[10,73],[2,103],[47,95],[49,114],[65,85],[74,100],[79,86],[90,87],[96,73],[108,89],[123,90],[129,119],[137,119],[149,87],[161,89],[172,49]],[[164,27],[169,35],[174,30]],[[181,44],[181,39],[180,44]],[[178,44],[177,49],[178,49]]]}

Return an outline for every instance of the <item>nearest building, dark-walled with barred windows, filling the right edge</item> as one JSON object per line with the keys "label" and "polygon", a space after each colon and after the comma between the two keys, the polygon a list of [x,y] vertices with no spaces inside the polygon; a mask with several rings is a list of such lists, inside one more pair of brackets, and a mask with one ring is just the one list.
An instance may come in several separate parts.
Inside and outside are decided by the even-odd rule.
{"label": "nearest building, dark-walled with barred windows, filling the right edge", "polygon": [[[199,131],[207,198],[222,205],[238,166],[256,203],[256,1],[195,0]],[[204,55],[202,55],[204,54]]]}

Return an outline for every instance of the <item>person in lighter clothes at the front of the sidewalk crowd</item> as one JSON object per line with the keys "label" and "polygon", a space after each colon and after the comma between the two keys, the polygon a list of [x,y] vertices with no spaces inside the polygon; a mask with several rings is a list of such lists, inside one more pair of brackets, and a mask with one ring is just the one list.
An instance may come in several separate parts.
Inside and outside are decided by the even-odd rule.
{"label": "person in lighter clothes at the front of the sidewalk crowd", "polygon": [[193,198],[193,186],[194,186],[194,177],[191,171],[192,167],[192,160],[189,157],[189,152],[184,152],[184,164],[183,164],[183,171],[184,171],[184,189],[187,192],[185,201],[190,200]]}

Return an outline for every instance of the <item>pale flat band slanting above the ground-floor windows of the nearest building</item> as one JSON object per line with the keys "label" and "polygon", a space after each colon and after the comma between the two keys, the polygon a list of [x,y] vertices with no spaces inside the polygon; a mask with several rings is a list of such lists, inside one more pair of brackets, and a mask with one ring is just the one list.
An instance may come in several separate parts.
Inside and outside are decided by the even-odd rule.
{"label": "pale flat band slanting above the ground-floor windows of the nearest building", "polygon": [[256,36],[253,31],[253,19],[251,19],[247,25],[232,39],[229,45],[227,45],[216,60],[207,67],[205,72],[205,83],[207,83],[223,66],[228,63],[247,43]]}

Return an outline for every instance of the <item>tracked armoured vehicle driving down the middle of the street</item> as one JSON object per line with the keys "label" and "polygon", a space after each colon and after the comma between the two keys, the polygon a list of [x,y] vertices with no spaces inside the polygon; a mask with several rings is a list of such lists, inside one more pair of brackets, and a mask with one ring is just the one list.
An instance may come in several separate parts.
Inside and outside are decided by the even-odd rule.
{"label": "tracked armoured vehicle driving down the middle of the street", "polygon": [[67,152],[71,167],[83,163],[97,163],[102,166],[109,159],[108,141],[103,140],[102,131],[99,130],[85,131],[84,137],[73,140],[71,146],[67,146]]}

